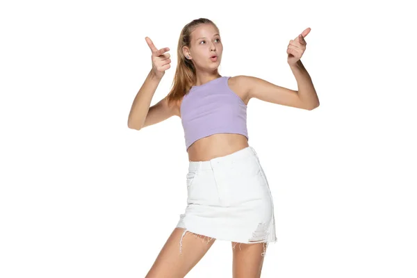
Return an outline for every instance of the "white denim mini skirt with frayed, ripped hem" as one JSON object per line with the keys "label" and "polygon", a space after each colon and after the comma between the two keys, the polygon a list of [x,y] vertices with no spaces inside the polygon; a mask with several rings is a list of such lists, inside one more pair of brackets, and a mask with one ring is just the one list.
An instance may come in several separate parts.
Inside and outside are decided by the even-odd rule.
{"label": "white denim mini skirt with frayed, ripped hem", "polygon": [[180,253],[187,231],[235,243],[277,241],[271,190],[253,147],[190,161],[186,185],[187,206],[177,224],[185,229]]}

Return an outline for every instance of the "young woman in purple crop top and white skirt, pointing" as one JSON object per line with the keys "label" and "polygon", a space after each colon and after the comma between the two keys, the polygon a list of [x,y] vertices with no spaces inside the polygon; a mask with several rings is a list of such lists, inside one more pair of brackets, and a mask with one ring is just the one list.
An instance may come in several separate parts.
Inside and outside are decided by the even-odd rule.
{"label": "young woman in purple crop top and white skirt, pointing", "polygon": [[179,37],[172,90],[151,107],[171,60],[169,48],[156,49],[152,40],[145,38],[152,50],[152,70],[133,101],[128,126],[140,130],[177,115],[189,158],[188,205],[147,278],[184,277],[216,239],[231,242],[234,277],[260,277],[266,247],[277,238],[268,181],[259,157],[248,145],[247,104],[255,97],[306,110],[319,106],[300,61],[309,32],[307,28],[288,44],[296,91],[252,76],[221,76],[220,31],[209,19],[193,20]]}

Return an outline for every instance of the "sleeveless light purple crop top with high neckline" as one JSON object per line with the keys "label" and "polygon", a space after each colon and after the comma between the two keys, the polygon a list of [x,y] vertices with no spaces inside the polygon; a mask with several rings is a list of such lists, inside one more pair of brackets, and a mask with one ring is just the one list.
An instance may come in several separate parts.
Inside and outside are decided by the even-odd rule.
{"label": "sleeveless light purple crop top with high neckline", "polygon": [[193,142],[215,133],[247,136],[246,104],[229,88],[230,76],[193,86],[181,102],[186,150]]}

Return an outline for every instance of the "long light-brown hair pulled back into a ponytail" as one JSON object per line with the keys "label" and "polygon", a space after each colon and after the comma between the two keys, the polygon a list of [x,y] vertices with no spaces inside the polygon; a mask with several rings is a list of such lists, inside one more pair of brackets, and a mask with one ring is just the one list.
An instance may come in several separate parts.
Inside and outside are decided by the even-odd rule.
{"label": "long light-brown hair pulled back into a ponytail", "polygon": [[[183,27],[181,34],[179,35],[177,57],[178,64],[177,70],[175,70],[174,80],[172,81],[172,89],[167,95],[168,104],[179,101],[197,82],[197,76],[195,74],[195,66],[191,60],[188,60],[183,54],[183,47],[190,48],[191,33],[201,24],[213,24],[218,30],[218,26],[214,24],[210,19],[199,18],[194,19],[192,22],[186,24]],[[220,32],[218,32],[220,33]]]}

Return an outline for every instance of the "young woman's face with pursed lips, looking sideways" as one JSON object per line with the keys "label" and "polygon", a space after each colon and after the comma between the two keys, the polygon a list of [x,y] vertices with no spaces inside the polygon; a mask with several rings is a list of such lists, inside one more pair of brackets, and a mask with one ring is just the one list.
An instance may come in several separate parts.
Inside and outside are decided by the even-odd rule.
{"label": "young woman's face with pursed lips, looking sideways", "polygon": [[[191,33],[190,49],[184,49],[196,67],[215,69],[222,60],[223,45],[218,30],[212,24],[202,24]],[[217,60],[211,57],[218,56]]]}

